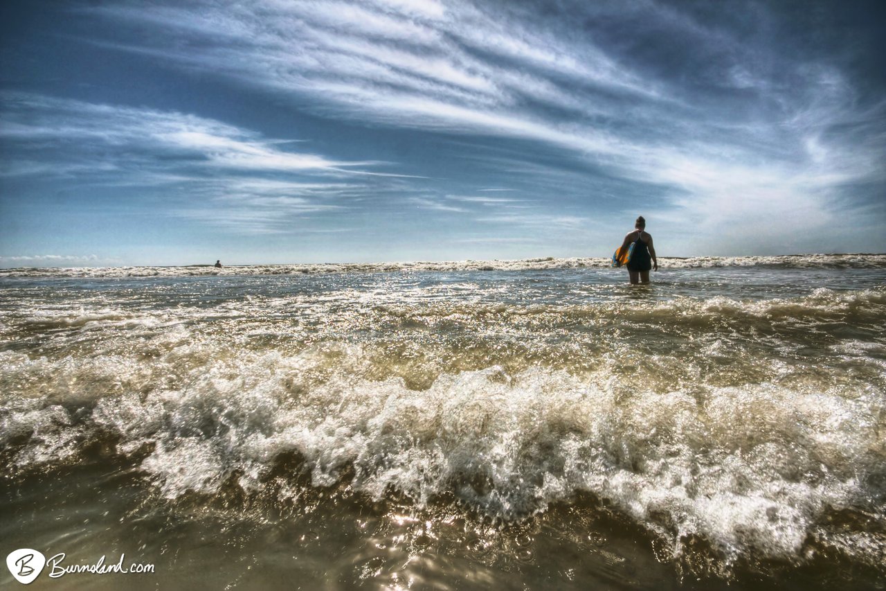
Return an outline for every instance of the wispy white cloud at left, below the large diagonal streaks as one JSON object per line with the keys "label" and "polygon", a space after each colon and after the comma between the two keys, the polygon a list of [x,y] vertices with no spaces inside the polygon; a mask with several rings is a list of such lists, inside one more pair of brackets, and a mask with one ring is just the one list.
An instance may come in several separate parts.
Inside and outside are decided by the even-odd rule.
{"label": "wispy white cloud at left, below the large diagonal streaks", "polygon": [[0,176],[162,187],[201,204],[169,215],[234,232],[283,232],[296,217],[347,209],[369,192],[354,175],[381,164],[296,152],[287,149],[291,140],[191,114],[17,92],[0,99],[0,140],[16,154],[0,164]]}

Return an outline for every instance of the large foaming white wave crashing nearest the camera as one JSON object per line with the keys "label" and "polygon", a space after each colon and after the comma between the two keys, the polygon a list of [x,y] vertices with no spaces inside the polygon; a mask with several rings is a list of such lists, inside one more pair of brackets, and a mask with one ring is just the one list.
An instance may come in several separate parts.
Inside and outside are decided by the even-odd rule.
{"label": "large foaming white wave crashing nearest the camera", "polygon": [[260,492],[294,454],[315,487],[344,479],[370,499],[395,493],[418,507],[452,497],[505,521],[592,493],[672,540],[675,555],[696,536],[727,560],[799,560],[834,510],[883,521],[886,424],[873,385],[657,391],[605,369],[488,366],[416,390],[365,377],[357,345],[291,356],[204,346],[149,364],[0,353],[13,386],[0,405],[7,468],[109,445],[175,499],[220,493],[232,478]]}

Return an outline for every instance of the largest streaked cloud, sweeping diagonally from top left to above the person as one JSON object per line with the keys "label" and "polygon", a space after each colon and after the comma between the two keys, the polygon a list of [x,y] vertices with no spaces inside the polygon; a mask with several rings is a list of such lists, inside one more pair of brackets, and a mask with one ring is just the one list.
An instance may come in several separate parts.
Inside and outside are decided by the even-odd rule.
{"label": "largest streaked cloud, sweeping diagonally from top left to above the person", "polygon": [[[746,8],[760,30],[776,18]],[[710,232],[708,246],[726,229],[722,202],[737,195],[749,199],[729,208],[733,224],[753,225],[766,202],[820,227],[841,215],[844,185],[882,182],[886,139],[859,134],[859,149],[845,129],[882,121],[884,104],[860,107],[834,65],[791,60],[775,40],[749,40],[672,4],[576,4],[571,19],[531,4],[381,0],[88,10],[155,34],[97,43],[313,98],[318,114],[515,138],[657,186],[657,212],[691,219],[683,230]]]}

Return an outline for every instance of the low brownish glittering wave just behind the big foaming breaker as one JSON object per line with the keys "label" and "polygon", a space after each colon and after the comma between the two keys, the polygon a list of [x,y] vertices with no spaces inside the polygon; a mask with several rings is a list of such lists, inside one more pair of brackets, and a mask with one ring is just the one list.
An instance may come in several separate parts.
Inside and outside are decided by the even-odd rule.
{"label": "low brownish glittering wave just behind the big foaming breaker", "polygon": [[[211,306],[109,306],[104,296],[76,305],[34,301],[0,310],[0,339],[21,351],[39,347],[52,359],[120,351],[156,356],[170,346],[184,351],[192,342],[214,343],[231,355],[352,343],[372,353],[376,375],[400,368],[408,380],[420,374],[422,383],[483,364],[510,370],[545,364],[582,373],[607,356],[639,367],[655,360],[673,380],[691,379],[680,366],[714,361],[719,366],[708,371],[728,366],[744,368],[746,377],[772,375],[778,360],[804,366],[790,352],[797,350],[818,351],[817,365],[842,362],[851,350],[870,364],[882,362],[876,327],[886,322],[886,288],[608,303],[507,303],[465,291],[470,296],[441,296],[434,287],[392,294],[345,288],[322,295],[248,295]],[[866,349],[859,343],[867,343]],[[655,372],[642,377],[659,379]]]}

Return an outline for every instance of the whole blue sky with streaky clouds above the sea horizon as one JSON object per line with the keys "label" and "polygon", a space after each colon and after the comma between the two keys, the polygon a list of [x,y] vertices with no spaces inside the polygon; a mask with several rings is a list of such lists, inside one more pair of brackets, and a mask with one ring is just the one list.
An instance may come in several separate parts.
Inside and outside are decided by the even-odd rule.
{"label": "whole blue sky with streaky clouds above the sea horizon", "polygon": [[0,6],[0,266],[884,252],[882,2]]}

